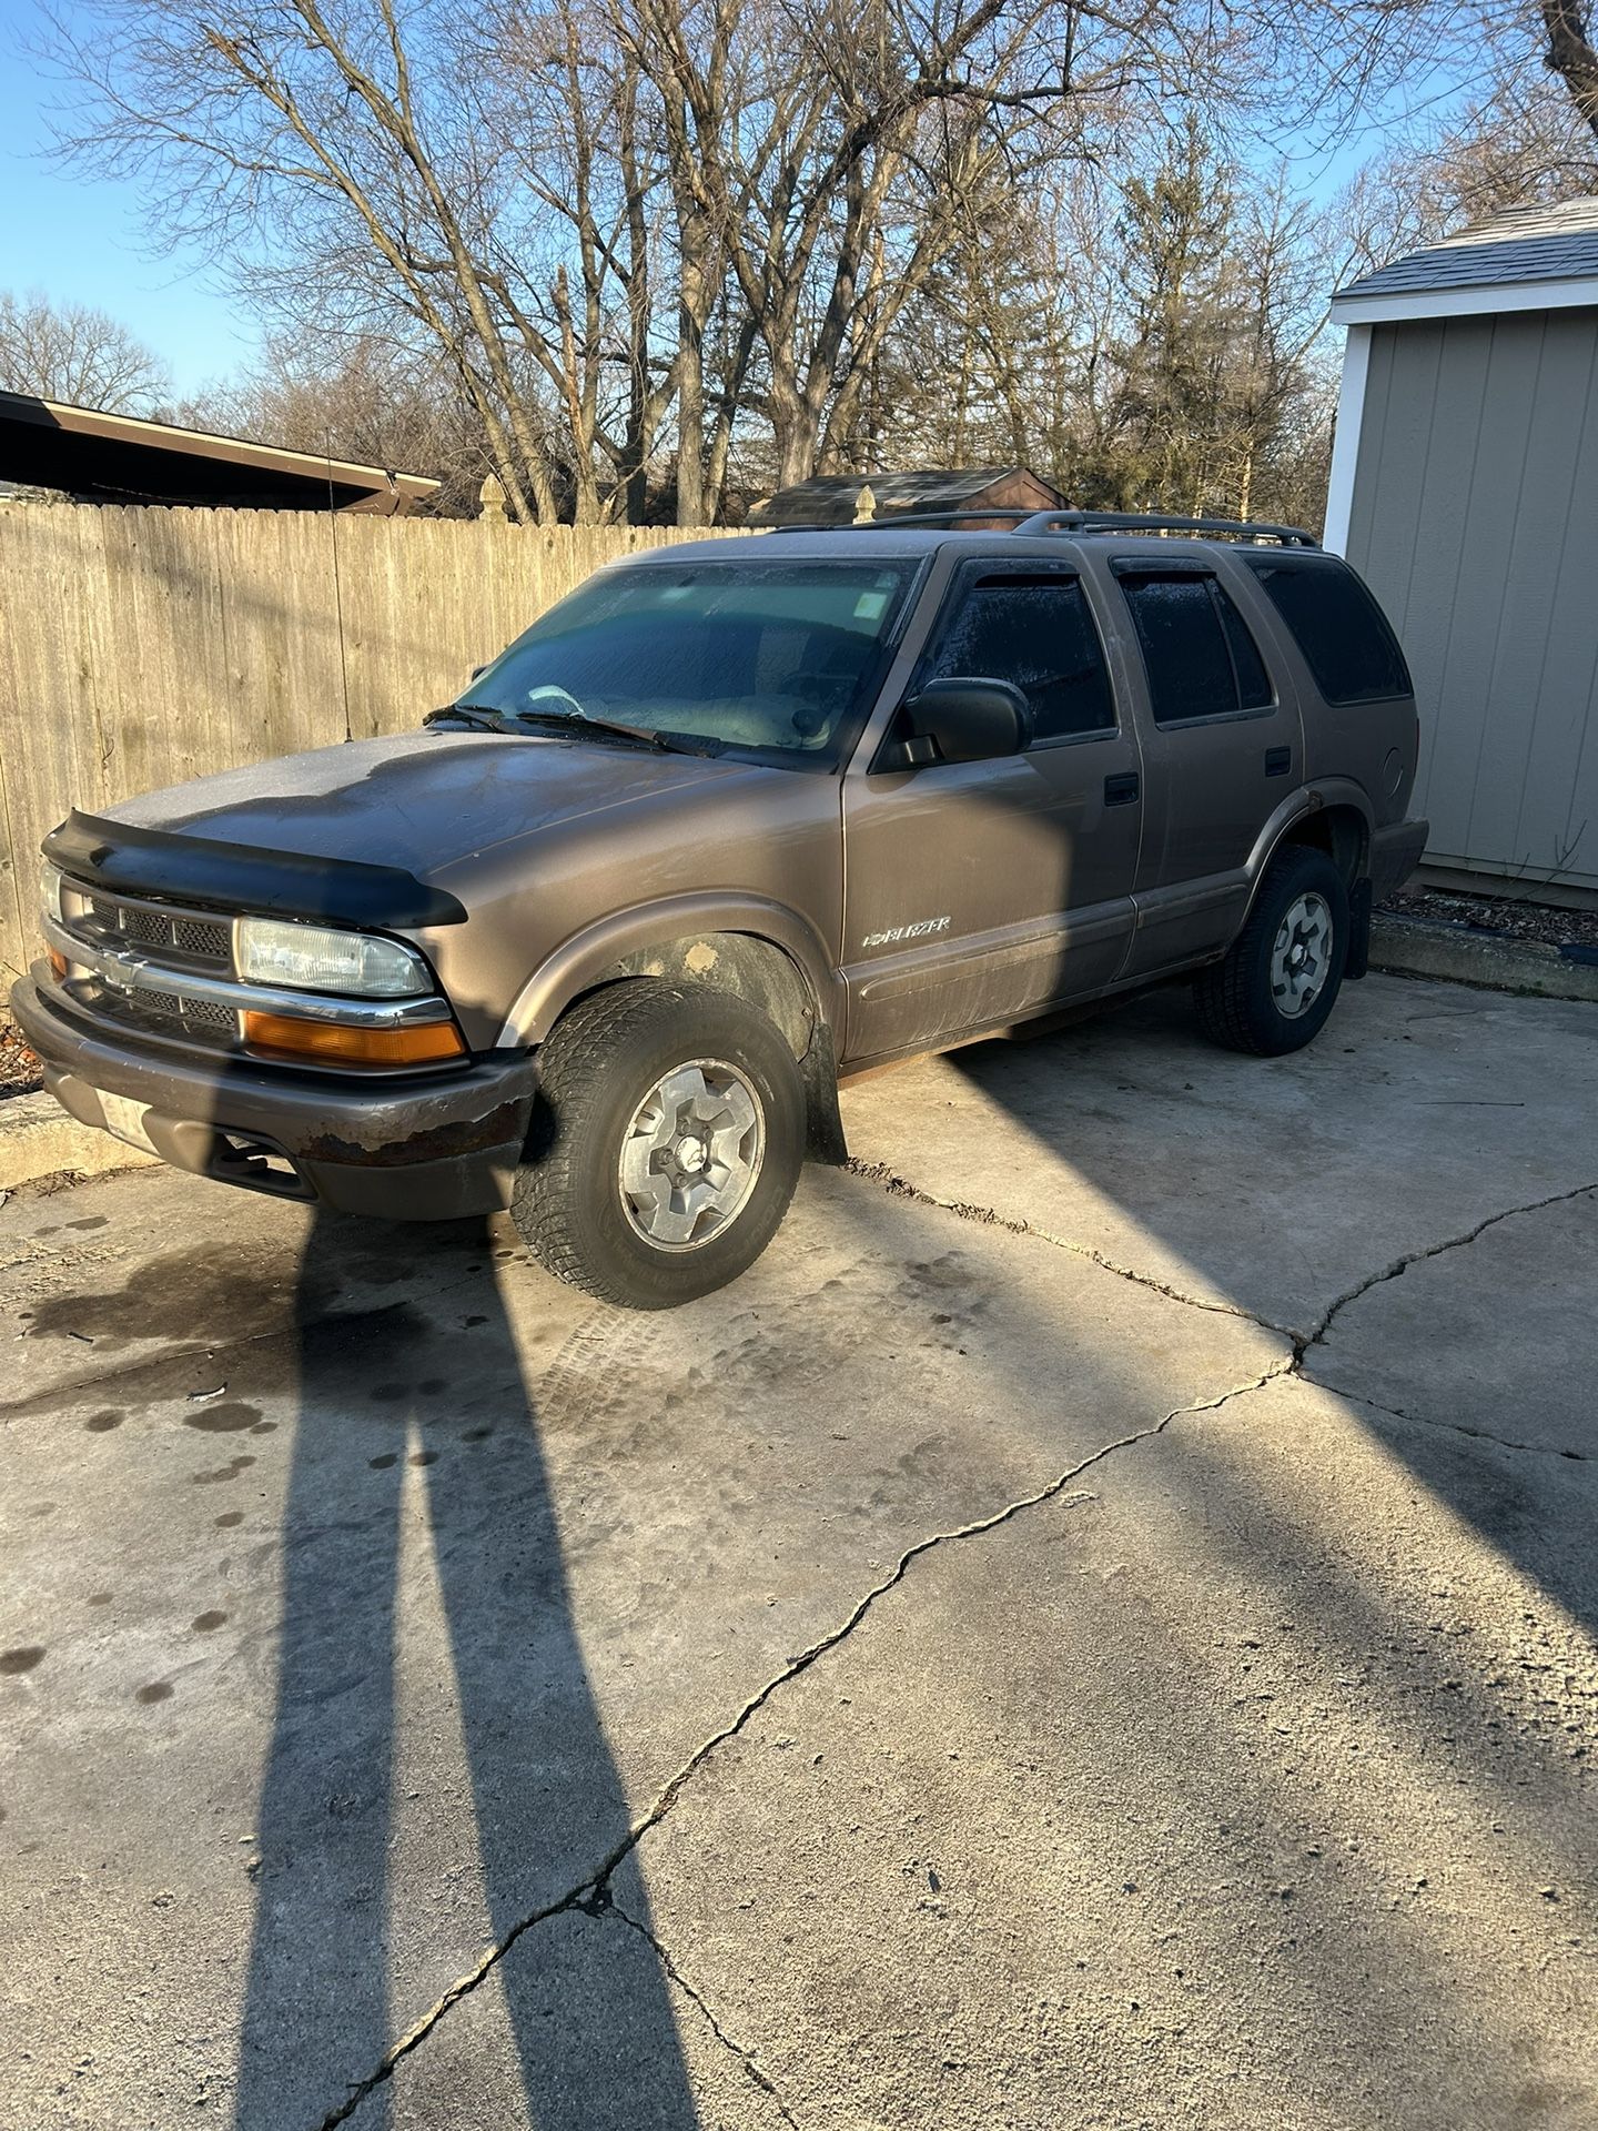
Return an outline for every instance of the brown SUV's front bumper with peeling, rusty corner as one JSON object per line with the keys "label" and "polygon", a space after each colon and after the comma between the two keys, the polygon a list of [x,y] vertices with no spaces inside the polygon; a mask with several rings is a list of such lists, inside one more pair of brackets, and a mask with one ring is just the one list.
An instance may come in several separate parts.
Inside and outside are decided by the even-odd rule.
{"label": "brown SUV's front bumper with peeling, rusty corner", "polygon": [[435,1074],[296,1072],[173,1057],[100,1034],[58,1002],[45,965],[11,987],[45,1087],[102,1132],[102,1095],[147,1104],[143,1129],[173,1168],[392,1221],[509,1204],[537,1100],[528,1055]]}

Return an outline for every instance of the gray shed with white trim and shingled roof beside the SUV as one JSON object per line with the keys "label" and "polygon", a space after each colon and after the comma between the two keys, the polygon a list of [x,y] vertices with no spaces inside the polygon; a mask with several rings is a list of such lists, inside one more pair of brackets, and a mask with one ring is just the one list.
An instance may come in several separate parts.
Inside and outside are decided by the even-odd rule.
{"label": "gray shed with white trim and shingled roof beside the SUV", "polygon": [[[1338,290],[1325,546],[1421,705],[1432,878],[1598,895],[1598,198],[1517,209]],[[1489,876],[1483,880],[1481,876]]]}

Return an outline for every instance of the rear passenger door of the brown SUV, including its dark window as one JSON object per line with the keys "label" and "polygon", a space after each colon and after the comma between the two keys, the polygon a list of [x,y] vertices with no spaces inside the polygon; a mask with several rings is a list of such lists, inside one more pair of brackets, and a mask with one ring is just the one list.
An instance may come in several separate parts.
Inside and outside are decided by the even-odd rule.
{"label": "rear passenger door of the brown SUV, including its dark window", "polygon": [[[1263,631],[1208,558],[1112,558],[1142,699],[1146,823],[1127,976],[1225,946],[1249,901],[1249,857],[1302,782],[1298,695]],[[1261,641],[1263,639],[1263,641]]]}

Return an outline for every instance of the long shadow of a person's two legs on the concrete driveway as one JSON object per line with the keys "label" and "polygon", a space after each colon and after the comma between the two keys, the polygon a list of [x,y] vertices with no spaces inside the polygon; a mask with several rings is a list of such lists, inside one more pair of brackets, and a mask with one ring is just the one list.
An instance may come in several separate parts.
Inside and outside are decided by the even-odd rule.
{"label": "long shadow of a person's two legs on the concrete driveway", "polygon": [[[460,1903],[477,1903],[484,1943],[503,1946],[629,1831],[571,1620],[537,1415],[499,1300],[492,1242],[486,1223],[433,1234],[439,1276],[450,1274],[443,1321],[409,1300],[339,1313],[341,1259],[362,1247],[360,1223],[317,1217],[300,1264],[300,1402],[239,2131],[281,2131],[286,2091],[305,2086],[326,2093],[337,2120],[362,2091],[349,2086],[352,2069],[371,2078],[396,2039],[396,1963],[433,1975],[439,1990],[454,1980],[454,1969],[428,1961],[426,1909],[420,1926],[413,1916],[398,1924],[394,1886],[405,1741],[420,1724],[437,1743],[439,1726],[452,1722],[452,1690],[477,1869],[471,1858],[452,1867],[439,1835],[433,1901],[454,1905],[456,1916]],[[356,1517],[347,1487],[330,1485],[354,1462],[352,1443],[373,1451],[371,1509]],[[401,1556],[415,1547],[430,1547],[437,1564],[454,1681],[437,1679],[435,1639],[418,1649],[407,1679],[407,1649],[424,1628],[413,1600],[409,1609],[401,1600]],[[424,1794],[403,1839],[428,1856],[433,1813],[462,1818],[447,1796]],[[631,1907],[637,1914],[637,1897]],[[409,1943],[394,1943],[396,1929]],[[692,2131],[654,1961],[586,1963],[580,2018],[537,1963],[505,1965],[501,1988],[526,2118],[539,2131]],[[377,2120],[375,2105],[381,2088],[362,2125]]]}

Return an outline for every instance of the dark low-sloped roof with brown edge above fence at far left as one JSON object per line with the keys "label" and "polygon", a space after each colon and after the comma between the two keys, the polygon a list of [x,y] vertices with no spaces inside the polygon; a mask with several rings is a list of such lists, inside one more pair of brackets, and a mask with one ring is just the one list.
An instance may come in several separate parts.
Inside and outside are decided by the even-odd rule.
{"label": "dark low-sloped roof with brown edge above fence at far left", "polygon": [[258,511],[375,511],[398,518],[439,482],[211,437],[173,422],[0,392],[0,484],[75,503],[198,503]]}

